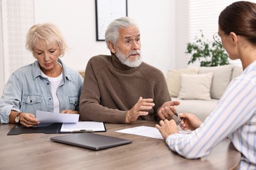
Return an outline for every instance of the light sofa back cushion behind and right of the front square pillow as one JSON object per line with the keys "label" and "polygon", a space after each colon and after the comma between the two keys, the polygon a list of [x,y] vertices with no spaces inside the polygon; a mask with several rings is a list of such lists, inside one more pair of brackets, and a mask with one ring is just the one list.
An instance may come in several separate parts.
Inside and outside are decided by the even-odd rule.
{"label": "light sofa back cushion behind and right of the front square pillow", "polygon": [[232,76],[232,65],[221,65],[216,67],[200,67],[199,73],[213,72],[211,83],[211,98],[220,99]]}

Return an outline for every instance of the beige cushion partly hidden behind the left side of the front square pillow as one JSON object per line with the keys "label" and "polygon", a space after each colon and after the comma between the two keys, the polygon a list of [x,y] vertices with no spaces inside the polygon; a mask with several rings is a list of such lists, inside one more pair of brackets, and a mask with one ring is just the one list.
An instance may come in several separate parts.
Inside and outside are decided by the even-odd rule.
{"label": "beige cushion partly hidden behind the left side of the front square pillow", "polygon": [[179,70],[169,70],[166,78],[169,94],[171,97],[177,97],[181,91],[181,73],[197,74],[199,68],[187,68]]}

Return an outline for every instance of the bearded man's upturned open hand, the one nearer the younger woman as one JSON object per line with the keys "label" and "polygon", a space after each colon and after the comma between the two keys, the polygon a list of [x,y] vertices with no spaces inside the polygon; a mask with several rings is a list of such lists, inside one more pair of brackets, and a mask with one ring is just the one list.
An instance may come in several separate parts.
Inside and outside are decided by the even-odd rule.
{"label": "bearded man's upturned open hand, the one nearer the younger woman", "polygon": [[158,109],[158,117],[161,120],[170,120],[173,114],[176,112],[176,108],[174,106],[177,106],[179,104],[179,101],[167,101],[163,103],[160,109]]}

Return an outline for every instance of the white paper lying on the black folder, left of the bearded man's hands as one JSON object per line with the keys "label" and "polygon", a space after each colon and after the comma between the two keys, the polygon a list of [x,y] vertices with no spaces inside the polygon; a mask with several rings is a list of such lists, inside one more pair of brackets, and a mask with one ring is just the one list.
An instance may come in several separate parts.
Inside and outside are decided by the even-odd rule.
{"label": "white paper lying on the black folder, left of the bearded man's hands", "polygon": [[61,132],[79,132],[79,131],[106,131],[103,122],[77,122],[76,124],[64,123],[60,129]]}

